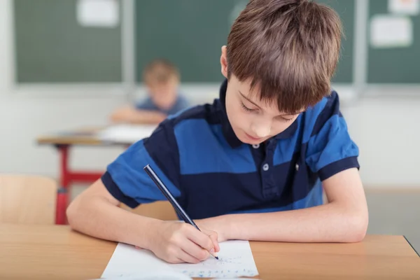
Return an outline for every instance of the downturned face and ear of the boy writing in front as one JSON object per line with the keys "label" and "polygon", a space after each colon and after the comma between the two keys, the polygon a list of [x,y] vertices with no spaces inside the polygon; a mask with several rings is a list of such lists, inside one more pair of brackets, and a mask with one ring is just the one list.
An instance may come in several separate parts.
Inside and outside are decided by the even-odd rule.
{"label": "downturned face and ear of the boy writing in front", "polygon": [[[228,75],[222,50],[222,73]],[[258,87],[250,91],[249,81],[241,82],[235,75],[229,78],[226,90],[226,112],[232,129],[238,139],[246,144],[260,144],[286,130],[299,113],[290,115],[279,112],[277,104],[267,104],[258,99]]]}

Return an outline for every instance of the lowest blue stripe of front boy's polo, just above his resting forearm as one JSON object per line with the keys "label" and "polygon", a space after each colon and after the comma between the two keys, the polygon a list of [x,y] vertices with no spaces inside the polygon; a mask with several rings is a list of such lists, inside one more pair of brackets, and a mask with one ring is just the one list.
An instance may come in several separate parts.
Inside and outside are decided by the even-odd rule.
{"label": "lowest blue stripe of front boy's polo, just above his resting forearm", "polygon": [[265,208],[265,209],[248,209],[241,211],[232,211],[230,214],[251,214],[251,213],[270,213],[279,211],[288,211],[295,209],[304,209],[308,207],[316,207],[323,204],[322,186],[318,184],[315,186],[306,197],[302,200],[290,203],[283,207]]}

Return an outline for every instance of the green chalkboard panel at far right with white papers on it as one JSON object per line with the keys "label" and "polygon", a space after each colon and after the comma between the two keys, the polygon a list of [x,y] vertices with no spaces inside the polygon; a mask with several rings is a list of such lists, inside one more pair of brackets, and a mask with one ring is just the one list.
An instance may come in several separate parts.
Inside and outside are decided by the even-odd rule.
{"label": "green chalkboard panel at far right with white papers on it", "polygon": [[[370,1],[369,19],[374,15],[389,14],[388,1]],[[410,18],[414,38],[408,47],[373,48],[370,45],[370,32],[367,32],[367,83],[420,83],[420,16]]]}

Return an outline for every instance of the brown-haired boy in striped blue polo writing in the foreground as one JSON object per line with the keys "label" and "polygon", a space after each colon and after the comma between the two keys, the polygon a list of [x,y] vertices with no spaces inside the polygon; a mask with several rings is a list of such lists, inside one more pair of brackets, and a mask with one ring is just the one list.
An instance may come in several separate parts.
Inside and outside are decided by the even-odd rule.
{"label": "brown-haired boy in striped blue polo writing in the foreground", "polygon": [[[220,99],[172,116],[120,155],[72,202],[71,227],[167,262],[199,262],[228,239],[362,240],[358,148],[330,90],[340,38],[326,6],[250,1],[222,48]],[[117,207],[165,199],[147,164],[202,232]]]}

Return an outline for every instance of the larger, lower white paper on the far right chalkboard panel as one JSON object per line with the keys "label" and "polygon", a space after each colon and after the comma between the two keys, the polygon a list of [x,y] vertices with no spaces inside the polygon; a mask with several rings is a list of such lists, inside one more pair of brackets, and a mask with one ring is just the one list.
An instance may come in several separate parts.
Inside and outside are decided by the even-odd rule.
{"label": "larger, lower white paper on the far right chalkboard panel", "polygon": [[374,48],[407,47],[413,42],[412,20],[405,16],[377,15],[370,22],[370,44]]}

